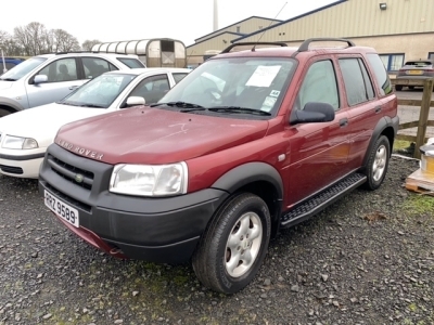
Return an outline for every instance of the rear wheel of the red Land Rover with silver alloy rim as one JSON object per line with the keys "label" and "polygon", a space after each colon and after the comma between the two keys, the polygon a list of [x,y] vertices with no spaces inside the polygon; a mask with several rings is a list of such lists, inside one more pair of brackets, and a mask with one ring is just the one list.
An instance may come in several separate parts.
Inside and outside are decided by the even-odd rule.
{"label": "rear wheel of the red Land Rover with silver alloy rim", "polygon": [[365,171],[368,180],[363,184],[365,188],[373,191],[381,186],[386,177],[390,159],[391,144],[388,143],[387,136],[381,135],[369,153]]}

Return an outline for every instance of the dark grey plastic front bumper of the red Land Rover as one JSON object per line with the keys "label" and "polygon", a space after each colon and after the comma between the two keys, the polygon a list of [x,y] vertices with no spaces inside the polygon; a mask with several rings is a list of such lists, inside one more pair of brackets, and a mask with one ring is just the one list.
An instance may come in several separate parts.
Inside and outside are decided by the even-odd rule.
{"label": "dark grey plastic front bumper of the red Land Rover", "polygon": [[[93,174],[91,188],[55,171],[52,161]],[[188,261],[228,194],[214,188],[166,198],[114,194],[107,191],[112,169],[111,165],[76,156],[53,144],[40,170],[39,190],[76,208],[79,227],[62,222],[112,256],[161,263]]]}

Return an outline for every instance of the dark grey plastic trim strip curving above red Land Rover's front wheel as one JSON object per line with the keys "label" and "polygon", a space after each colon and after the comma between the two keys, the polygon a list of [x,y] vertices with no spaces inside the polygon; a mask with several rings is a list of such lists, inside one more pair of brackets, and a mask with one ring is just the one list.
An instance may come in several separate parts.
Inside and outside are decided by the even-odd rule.
{"label": "dark grey plastic trim strip curving above red Land Rover's front wheel", "polygon": [[282,200],[282,178],[271,165],[265,162],[240,165],[221,176],[210,187],[234,193],[238,188],[257,181],[271,183],[276,187],[278,199]]}

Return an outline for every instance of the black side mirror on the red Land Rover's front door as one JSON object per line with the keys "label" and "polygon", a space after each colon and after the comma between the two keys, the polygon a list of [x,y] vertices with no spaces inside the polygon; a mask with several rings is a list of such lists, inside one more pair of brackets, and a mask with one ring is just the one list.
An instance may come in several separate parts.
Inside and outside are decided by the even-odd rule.
{"label": "black side mirror on the red Land Rover's front door", "polygon": [[310,102],[304,109],[291,113],[290,125],[308,122],[328,122],[334,120],[334,108],[328,103]]}

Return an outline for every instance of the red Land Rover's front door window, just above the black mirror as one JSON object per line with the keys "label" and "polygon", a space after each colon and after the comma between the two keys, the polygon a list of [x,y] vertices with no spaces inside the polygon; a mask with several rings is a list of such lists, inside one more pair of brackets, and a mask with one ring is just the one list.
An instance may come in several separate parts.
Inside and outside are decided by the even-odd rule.
{"label": "red Land Rover's front door window, just above the black mirror", "polygon": [[328,103],[334,110],[340,107],[336,75],[331,61],[314,63],[303,80],[299,89],[296,108],[303,109],[309,102]]}

